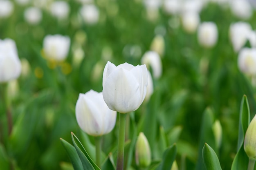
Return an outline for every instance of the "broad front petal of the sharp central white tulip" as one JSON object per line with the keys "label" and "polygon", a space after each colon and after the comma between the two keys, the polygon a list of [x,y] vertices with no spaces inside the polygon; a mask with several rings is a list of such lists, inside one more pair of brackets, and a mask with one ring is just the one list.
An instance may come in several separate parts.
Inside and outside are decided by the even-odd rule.
{"label": "broad front petal of the sharp central white tulip", "polygon": [[136,110],[140,100],[137,79],[129,71],[117,69],[108,76],[103,85],[103,99],[111,110],[119,113]]}

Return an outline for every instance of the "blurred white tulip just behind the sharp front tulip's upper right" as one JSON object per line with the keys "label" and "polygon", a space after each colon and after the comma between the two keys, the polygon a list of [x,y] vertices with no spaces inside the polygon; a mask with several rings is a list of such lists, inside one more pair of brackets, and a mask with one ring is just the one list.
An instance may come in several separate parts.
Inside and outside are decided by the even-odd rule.
{"label": "blurred white tulip just behind the sharp front tulip's upper right", "polygon": [[152,69],[153,77],[159,78],[162,75],[162,61],[155,51],[147,51],[141,57],[141,64],[146,64],[148,69]]}

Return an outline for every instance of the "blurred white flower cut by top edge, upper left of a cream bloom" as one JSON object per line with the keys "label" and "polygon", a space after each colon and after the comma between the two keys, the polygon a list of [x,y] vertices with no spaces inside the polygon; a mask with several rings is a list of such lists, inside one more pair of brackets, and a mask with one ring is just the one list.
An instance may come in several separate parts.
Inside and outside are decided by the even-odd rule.
{"label": "blurred white flower cut by top edge, upper left of a cream bloom", "polygon": [[180,0],[164,0],[163,7],[166,13],[175,15],[180,13],[181,1]]}

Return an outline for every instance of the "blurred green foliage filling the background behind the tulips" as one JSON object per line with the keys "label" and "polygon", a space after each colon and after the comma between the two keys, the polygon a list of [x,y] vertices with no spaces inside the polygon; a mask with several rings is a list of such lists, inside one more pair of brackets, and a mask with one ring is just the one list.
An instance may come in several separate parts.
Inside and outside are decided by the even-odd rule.
{"label": "blurred green foliage filling the background behind the tulips", "polygon": [[[95,0],[100,17],[97,24],[86,24],[79,17],[81,3],[67,1],[70,13],[65,20],[54,18],[42,9],[39,24],[31,25],[23,17],[24,10],[13,2],[8,18],[0,18],[0,39],[16,42],[19,58],[29,62],[28,75],[18,79],[18,91],[12,97],[13,131],[8,137],[3,98],[0,98],[2,143],[0,160],[16,170],[58,170],[70,168],[70,160],[60,138],[71,141],[74,132],[81,141],[94,139],[79,129],[75,104],[79,93],[90,89],[102,91],[102,73],[108,60],[119,65],[141,64],[141,56],[150,50],[157,34],[162,34],[165,51],[162,56],[163,74],[154,79],[154,93],[148,103],[134,113],[137,134],[148,137],[153,159],[162,155],[161,130],[166,145],[177,143],[177,164],[180,169],[198,169],[200,126],[204,110],[209,107],[214,120],[222,126],[222,143],[218,150],[223,170],[229,170],[237,149],[240,102],[247,95],[253,117],[256,111],[255,87],[249,77],[238,69],[237,57],[229,40],[229,26],[238,22],[229,8],[209,3],[200,13],[201,22],[213,21],[218,26],[218,42],[211,49],[198,44],[197,33],[186,33],[175,15],[160,7],[158,18],[149,20],[140,0]],[[256,13],[247,20],[256,28]],[[42,57],[43,38],[48,34],[68,35],[70,52],[65,62],[51,66]],[[74,51],[79,47],[84,55],[75,64]],[[3,86],[0,84],[0,95]],[[144,117],[144,122],[141,121]],[[118,119],[118,118],[117,118]],[[131,120],[132,121],[132,120]],[[106,155],[117,145],[117,129],[103,137]],[[176,131],[175,131],[176,130]],[[173,137],[173,133],[178,135]],[[133,129],[130,130],[133,135]],[[198,151],[199,150],[199,151]],[[134,169],[135,162],[132,163]],[[1,168],[0,168],[1,169]]]}

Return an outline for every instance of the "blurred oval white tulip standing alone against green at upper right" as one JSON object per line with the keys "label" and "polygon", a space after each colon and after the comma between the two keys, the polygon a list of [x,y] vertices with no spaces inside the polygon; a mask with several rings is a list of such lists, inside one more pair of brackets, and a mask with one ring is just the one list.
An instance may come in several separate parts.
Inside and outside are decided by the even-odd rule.
{"label": "blurred oval white tulip standing alone against green at upper right", "polygon": [[204,47],[212,47],[218,39],[218,28],[214,22],[202,22],[198,27],[198,42]]}

